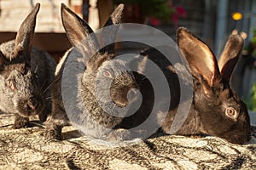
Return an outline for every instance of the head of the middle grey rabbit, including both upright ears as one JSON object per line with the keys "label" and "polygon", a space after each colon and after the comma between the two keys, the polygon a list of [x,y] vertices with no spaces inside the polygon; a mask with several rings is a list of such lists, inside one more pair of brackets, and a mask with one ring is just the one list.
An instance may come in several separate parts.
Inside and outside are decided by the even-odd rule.
{"label": "head of the middle grey rabbit, including both upright ears", "polygon": [[[84,56],[82,88],[86,88],[102,104],[113,102],[114,105],[125,107],[136,96],[137,83],[132,71],[128,71],[125,59],[114,59],[113,42],[119,27],[124,5],[120,4],[111,14],[102,30],[102,41],[88,24],[62,5],[62,23],[67,37],[74,47]],[[102,42],[103,48],[99,42]],[[108,44],[109,43],[109,44]],[[90,57],[91,56],[91,57]],[[129,95],[128,95],[129,94]]]}

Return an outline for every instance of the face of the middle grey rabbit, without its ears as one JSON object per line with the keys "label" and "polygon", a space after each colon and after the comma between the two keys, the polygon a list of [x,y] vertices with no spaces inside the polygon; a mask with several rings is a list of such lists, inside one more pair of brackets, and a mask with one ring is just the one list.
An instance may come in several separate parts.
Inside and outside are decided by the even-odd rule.
{"label": "face of the middle grey rabbit, without its ears", "polygon": [[[93,75],[92,80],[96,82],[96,87],[88,89],[91,93],[91,90],[95,90],[102,102],[111,102],[108,99],[112,99],[115,105],[125,107],[129,104],[129,100],[131,102],[133,93],[136,93],[133,88],[137,88],[132,71],[126,71],[127,68],[128,65],[122,59],[104,61],[98,68],[97,74]],[[83,83],[85,86],[91,83],[87,78],[91,73],[91,70],[84,71]],[[110,98],[106,98],[109,94]]]}

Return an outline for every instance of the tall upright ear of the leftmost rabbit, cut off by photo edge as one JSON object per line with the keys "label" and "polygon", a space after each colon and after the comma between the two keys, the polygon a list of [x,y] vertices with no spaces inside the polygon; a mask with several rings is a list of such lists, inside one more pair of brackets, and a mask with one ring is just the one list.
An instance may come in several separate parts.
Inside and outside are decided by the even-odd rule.
{"label": "tall upright ear of the leftmost rabbit, cut off by photo edge", "polygon": [[23,57],[30,59],[32,41],[34,37],[39,8],[40,3],[37,3],[32,9],[32,12],[28,14],[26,19],[22,22],[15,39],[15,56],[22,54]]}

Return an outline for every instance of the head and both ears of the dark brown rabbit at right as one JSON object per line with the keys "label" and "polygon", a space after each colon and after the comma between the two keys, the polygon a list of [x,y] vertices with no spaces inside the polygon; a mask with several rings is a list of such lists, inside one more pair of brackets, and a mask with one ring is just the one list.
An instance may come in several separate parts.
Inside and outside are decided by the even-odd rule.
{"label": "head and both ears of the dark brown rabbit at right", "polygon": [[185,28],[177,30],[177,44],[193,76],[194,99],[190,112],[198,115],[201,133],[247,142],[250,120],[247,106],[230,87],[230,78],[240,57],[243,39],[231,35],[218,61],[212,50]]}

